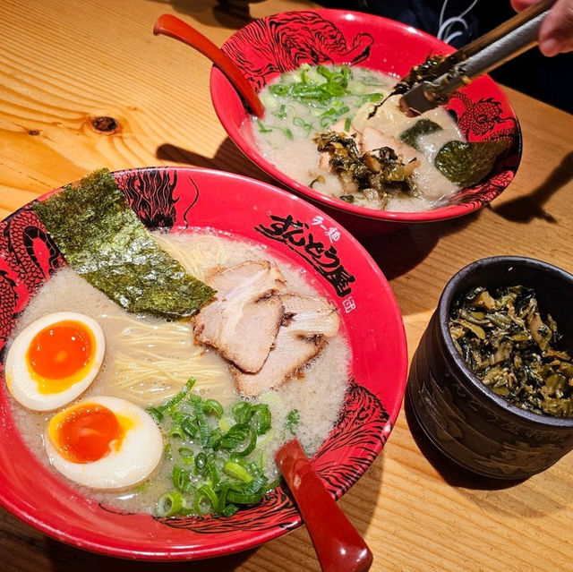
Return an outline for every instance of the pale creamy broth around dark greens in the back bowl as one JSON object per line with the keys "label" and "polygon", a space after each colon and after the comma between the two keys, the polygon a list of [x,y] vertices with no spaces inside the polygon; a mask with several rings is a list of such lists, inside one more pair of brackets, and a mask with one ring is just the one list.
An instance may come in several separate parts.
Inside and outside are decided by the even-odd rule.
{"label": "pale creamy broth around dark greens in the back bowl", "polygon": [[[340,66],[322,67],[326,67],[330,73],[340,69]],[[376,103],[389,95],[397,80],[367,68],[348,69],[352,73],[347,86],[350,93],[330,101],[324,107],[316,107],[312,101],[305,102],[304,98],[294,98],[290,94],[284,96],[280,89],[300,82],[302,73],[309,81],[327,81],[316,72],[316,67],[306,65],[295,72],[285,73],[261,90],[260,97],[266,113],[262,120],[253,118],[249,127],[263,157],[295,181],[312,184],[315,191],[338,198],[343,194],[338,175],[319,166],[321,153],[312,141],[318,132],[329,131],[334,126],[335,131],[349,135],[363,132],[365,127],[370,126],[399,141],[400,135],[420,119],[429,119],[440,126],[440,131],[420,136],[416,141],[419,150],[410,148],[420,161],[413,175],[418,196],[397,196],[383,205],[376,192],[372,191],[365,193],[367,196],[356,193],[354,204],[371,209],[410,212],[433,209],[443,204],[449,196],[458,192],[459,187],[442,175],[433,162],[447,142],[465,141],[453,118],[440,107],[415,118],[406,117],[398,109],[399,96],[389,98],[369,118]],[[399,144],[406,145],[402,141]],[[395,150],[399,155],[400,150]],[[317,177],[324,180],[319,181]]]}

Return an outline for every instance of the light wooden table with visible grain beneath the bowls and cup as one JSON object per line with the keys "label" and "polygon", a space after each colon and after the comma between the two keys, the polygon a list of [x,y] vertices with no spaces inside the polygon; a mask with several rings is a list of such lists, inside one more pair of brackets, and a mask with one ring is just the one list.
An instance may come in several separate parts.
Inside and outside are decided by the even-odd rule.
{"label": "light wooden table with visible grain beneath the bowls and cup", "polygon": [[[175,13],[220,45],[252,18],[312,5],[3,0],[0,216],[99,166],[209,166],[269,181],[218,123],[210,102],[210,62],[151,30],[159,14]],[[441,289],[467,262],[512,253],[573,271],[573,116],[508,93],[523,130],[523,160],[491,208],[366,244],[398,298],[410,354]],[[98,131],[96,119],[104,116],[115,118],[115,131]],[[573,569],[573,455],[526,482],[494,486],[444,464],[406,411],[381,455],[339,504],[370,544],[373,570]],[[0,569],[320,568],[304,527],[227,558],[146,563],[66,546],[0,509]]]}

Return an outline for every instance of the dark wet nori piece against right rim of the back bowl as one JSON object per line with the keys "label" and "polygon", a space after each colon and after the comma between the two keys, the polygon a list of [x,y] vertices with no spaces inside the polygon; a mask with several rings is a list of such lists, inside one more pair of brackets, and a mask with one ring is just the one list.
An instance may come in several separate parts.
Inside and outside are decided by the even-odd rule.
{"label": "dark wet nori piece against right rim of the back bowl", "polygon": [[449,141],[435,158],[435,166],[452,183],[469,187],[488,175],[496,159],[509,149],[510,141]]}

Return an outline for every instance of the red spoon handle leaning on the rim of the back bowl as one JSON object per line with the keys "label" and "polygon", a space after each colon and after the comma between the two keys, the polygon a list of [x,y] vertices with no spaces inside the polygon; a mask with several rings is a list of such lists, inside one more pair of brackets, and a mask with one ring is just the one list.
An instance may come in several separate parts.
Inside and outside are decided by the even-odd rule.
{"label": "red spoon handle leaning on the rim of the back bowl", "polygon": [[178,39],[188,46],[194,47],[201,54],[206,55],[213,64],[217,65],[221,72],[225,73],[228,81],[233,84],[235,90],[244,99],[252,114],[257,117],[264,115],[265,108],[261,103],[261,99],[259,99],[255,90],[252,89],[252,85],[244,77],[241,70],[209,38],[203,36],[200,31],[195,30],[188,23],[179,20],[172,14],[162,14],[158,17],[158,21],[155,22],[153,33],[156,36],[163,34],[164,36]]}

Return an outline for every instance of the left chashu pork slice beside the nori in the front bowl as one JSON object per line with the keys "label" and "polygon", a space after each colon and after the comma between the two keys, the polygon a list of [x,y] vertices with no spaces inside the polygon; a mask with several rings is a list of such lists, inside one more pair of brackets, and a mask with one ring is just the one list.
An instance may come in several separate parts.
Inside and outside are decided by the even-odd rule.
{"label": "left chashu pork slice beside the nori in the front bowl", "polygon": [[280,270],[267,260],[246,260],[216,270],[206,281],[217,295],[195,317],[195,340],[215,347],[242,371],[261,370],[283,319]]}

